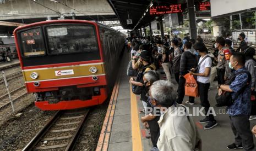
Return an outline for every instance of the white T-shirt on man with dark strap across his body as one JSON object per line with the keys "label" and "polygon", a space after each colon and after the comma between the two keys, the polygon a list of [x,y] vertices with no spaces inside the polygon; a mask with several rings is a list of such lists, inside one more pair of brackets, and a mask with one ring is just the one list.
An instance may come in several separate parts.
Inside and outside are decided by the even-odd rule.
{"label": "white T-shirt on man with dark strap across his body", "polygon": [[[206,57],[206,56],[208,56],[208,55],[205,55],[204,57]],[[198,65],[201,62],[201,60],[203,60],[204,57],[200,57]],[[204,73],[205,68],[210,68],[211,69],[211,57],[206,58],[201,63],[198,73]],[[210,83],[210,74],[209,74],[208,77],[197,76],[197,81],[200,82],[200,83]]]}

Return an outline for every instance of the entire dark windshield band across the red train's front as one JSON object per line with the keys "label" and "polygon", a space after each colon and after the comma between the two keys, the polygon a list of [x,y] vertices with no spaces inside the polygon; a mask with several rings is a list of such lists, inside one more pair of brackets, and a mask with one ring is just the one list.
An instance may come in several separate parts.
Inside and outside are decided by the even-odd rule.
{"label": "entire dark windshield band across the red train's front", "polygon": [[91,25],[45,25],[18,35],[24,66],[100,60],[95,27]]}

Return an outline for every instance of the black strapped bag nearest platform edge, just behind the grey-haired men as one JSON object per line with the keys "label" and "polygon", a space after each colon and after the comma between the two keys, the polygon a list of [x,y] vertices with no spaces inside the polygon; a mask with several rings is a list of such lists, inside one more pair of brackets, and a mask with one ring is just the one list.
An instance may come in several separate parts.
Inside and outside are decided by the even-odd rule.
{"label": "black strapped bag nearest platform edge, just behind the grey-haired men", "polygon": [[[146,70],[146,68],[150,68],[151,70],[154,70],[153,67],[150,66],[150,64],[148,64],[147,66],[143,67],[142,71],[140,71],[137,75],[137,77],[135,78],[135,82],[140,82],[143,83],[143,75],[144,72]],[[132,85],[132,91],[135,95],[140,95],[142,92],[143,86],[137,86],[137,85]]]}

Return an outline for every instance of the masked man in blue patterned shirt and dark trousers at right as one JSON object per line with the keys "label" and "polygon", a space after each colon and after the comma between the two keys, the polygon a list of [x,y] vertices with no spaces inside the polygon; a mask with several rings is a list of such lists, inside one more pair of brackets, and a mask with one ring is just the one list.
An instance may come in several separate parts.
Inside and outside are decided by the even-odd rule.
{"label": "masked man in blue patterned shirt and dark trousers at right", "polygon": [[231,128],[235,135],[235,142],[227,146],[228,149],[243,148],[255,150],[252,132],[250,131],[249,115],[251,110],[250,73],[244,67],[246,58],[242,53],[233,53],[229,67],[235,69],[235,78],[230,85],[219,84],[219,95],[224,91],[231,92],[233,104],[228,106],[227,113],[230,115]]}

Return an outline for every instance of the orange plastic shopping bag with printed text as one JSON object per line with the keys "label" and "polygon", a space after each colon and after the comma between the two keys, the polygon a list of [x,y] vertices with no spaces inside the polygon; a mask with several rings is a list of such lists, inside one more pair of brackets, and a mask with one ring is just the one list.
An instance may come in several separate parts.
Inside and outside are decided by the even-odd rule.
{"label": "orange plastic shopping bag with printed text", "polygon": [[185,95],[198,97],[198,85],[194,76],[187,73],[186,75],[184,75],[184,78],[186,79]]}

